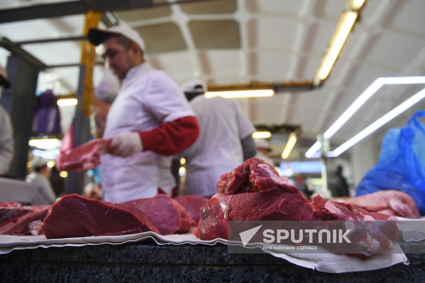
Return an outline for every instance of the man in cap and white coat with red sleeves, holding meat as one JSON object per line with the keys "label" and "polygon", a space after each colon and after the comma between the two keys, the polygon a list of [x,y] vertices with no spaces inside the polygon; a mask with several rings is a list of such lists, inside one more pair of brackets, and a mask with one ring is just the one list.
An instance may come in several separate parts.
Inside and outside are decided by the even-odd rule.
{"label": "man in cap and white coat with red sleeves, holding meat", "polygon": [[121,81],[103,133],[112,139],[110,154],[100,158],[103,199],[120,203],[158,192],[171,195],[173,175],[160,170],[170,168],[171,156],[198,137],[193,111],[177,82],[144,60],[144,41],[136,30],[127,25],[92,28],[88,39],[103,44],[103,56]]}

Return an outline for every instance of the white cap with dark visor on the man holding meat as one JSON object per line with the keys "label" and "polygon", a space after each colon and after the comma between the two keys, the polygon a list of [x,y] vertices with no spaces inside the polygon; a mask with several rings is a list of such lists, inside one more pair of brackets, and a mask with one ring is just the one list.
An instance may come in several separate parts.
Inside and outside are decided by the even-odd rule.
{"label": "white cap with dark visor on the man holding meat", "polygon": [[136,43],[143,52],[146,49],[146,46],[144,45],[144,41],[142,37],[140,37],[140,34],[134,28],[131,28],[129,25],[113,25],[107,30],[91,28],[88,30],[87,37],[88,40],[90,40],[90,42],[94,45],[100,45],[112,35],[123,35],[129,40]]}

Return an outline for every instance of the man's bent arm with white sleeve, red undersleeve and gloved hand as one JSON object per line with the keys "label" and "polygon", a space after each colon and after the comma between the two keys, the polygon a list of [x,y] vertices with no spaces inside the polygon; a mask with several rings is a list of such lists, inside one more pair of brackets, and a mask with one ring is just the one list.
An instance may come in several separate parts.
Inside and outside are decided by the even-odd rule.
{"label": "man's bent arm with white sleeve, red undersleeve and gloved hand", "polygon": [[124,132],[116,136],[111,142],[111,154],[126,157],[151,150],[171,156],[185,150],[198,138],[198,121],[170,75],[156,73],[141,103],[161,124],[151,130]]}

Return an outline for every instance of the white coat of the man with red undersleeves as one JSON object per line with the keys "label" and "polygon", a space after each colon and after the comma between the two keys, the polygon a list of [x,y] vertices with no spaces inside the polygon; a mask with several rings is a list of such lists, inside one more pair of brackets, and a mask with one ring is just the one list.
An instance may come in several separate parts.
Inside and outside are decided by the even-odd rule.
{"label": "white coat of the man with red undersleeves", "polygon": [[[147,62],[131,68],[122,81],[118,96],[106,120],[104,138],[124,131],[145,131],[181,117],[194,116],[177,82],[166,72],[154,70]],[[169,170],[170,157],[142,151],[122,158],[101,156],[102,191],[105,201],[120,203],[150,198],[158,187],[171,193],[175,181]],[[172,184],[172,186],[170,185]]]}

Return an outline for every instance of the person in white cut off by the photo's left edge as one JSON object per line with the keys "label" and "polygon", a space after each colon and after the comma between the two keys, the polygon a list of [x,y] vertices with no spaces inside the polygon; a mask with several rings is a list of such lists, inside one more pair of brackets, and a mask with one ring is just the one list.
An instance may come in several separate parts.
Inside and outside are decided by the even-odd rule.
{"label": "person in white cut off by the photo's left edge", "polygon": [[[2,88],[9,88],[10,82],[7,77],[6,69],[0,65],[0,98]],[[14,154],[13,131],[10,117],[6,110],[0,105],[0,175],[5,175],[8,170]]]}

